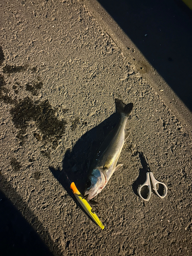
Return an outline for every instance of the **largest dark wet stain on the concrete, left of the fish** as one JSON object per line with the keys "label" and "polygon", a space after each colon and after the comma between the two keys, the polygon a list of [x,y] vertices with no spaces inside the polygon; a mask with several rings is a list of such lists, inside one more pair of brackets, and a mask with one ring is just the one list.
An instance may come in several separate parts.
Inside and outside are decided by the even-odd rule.
{"label": "largest dark wet stain on the concrete, left of the fish", "polygon": [[[41,103],[33,102],[29,97],[24,98],[10,110],[12,121],[20,133],[25,134],[28,123],[33,120],[43,134],[42,140],[52,142],[55,148],[58,140],[65,132],[66,121],[55,117],[56,110],[48,100]],[[37,136],[38,137],[38,136]],[[39,138],[39,137],[38,137]]]}

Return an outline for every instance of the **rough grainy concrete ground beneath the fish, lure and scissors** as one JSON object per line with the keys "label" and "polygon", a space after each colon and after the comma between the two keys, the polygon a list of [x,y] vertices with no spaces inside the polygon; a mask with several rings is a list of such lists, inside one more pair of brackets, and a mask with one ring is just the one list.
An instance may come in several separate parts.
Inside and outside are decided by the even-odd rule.
{"label": "rough grainy concrete ground beneath the fish, lure and scissors", "polygon": [[[2,255],[191,255],[191,137],[153,84],[82,2],[0,7]],[[115,98],[134,109],[124,166],[96,198],[101,230],[65,173],[83,188],[103,131],[117,121]],[[166,198],[138,197],[138,152],[167,184]]]}

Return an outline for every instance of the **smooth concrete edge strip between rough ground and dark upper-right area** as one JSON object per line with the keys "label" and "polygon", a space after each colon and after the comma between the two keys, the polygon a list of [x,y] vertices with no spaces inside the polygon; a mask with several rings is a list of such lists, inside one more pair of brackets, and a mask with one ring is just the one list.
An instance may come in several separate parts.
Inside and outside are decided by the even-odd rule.
{"label": "smooth concrete edge strip between rough ground and dark upper-right area", "polygon": [[[97,0],[80,0],[105,32],[119,46],[125,58],[133,63],[137,71],[152,86],[160,99],[172,111],[175,117],[183,124],[186,132],[192,137],[190,129],[192,124],[192,113],[168,86],[166,81],[158,74],[153,66],[146,60],[132,40],[123,32],[111,15],[97,2]],[[132,59],[132,61],[130,61]],[[142,69],[141,69],[142,68]]]}

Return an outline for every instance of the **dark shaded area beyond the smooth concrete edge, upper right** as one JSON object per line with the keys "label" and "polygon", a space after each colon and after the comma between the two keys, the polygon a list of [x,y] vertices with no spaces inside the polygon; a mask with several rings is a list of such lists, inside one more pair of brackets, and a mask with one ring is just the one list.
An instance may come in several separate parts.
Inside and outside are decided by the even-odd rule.
{"label": "dark shaded area beyond the smooth concrete edge, upper right", "polygon": [[192,110],[192,14],[180,1],[98,0]]}

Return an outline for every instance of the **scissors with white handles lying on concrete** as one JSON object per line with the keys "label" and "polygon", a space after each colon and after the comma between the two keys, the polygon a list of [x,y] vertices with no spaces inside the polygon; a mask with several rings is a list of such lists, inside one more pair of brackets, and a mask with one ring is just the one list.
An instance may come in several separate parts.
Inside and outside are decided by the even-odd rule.
{"label": "scissors with white handles lying on concrete", "polygon": [[[146,166],[146,169],[147,169],[147,173],[146,173],[146,180],[145,182],[138,188],[138,194],[140,196],[140,198],[142,198],[143,200],[145,201],[148,201],[150,200],[150,197],[151,197],[151,194],[152,194],[152,187],[151,187],[151,183],[153,185],[153,190],[155,191],[156,195],[160,198],[164,198],[166,197],[167,195],[167,186],[163,183],[163,182],[160,182],[158,180],[156,180],[153,176],[153,173],[151,172],[151,169],[150,169],[150,166],[148,164],[148,161],[146,159],[146,156],[143,154],[143,153],[140,153],[141,156],[143,157],[144,156],[144,160],[145,160],[145,166]],[[156,185],[159,184],[159,188],[163,186],[163,194],[160,195],[159,194],[159,191],[160,189],[157,189]],[[142,193],[142,188],[144,187],[147,187],[148,188],[148,195],[147,195],[147,198],[144,198],[141,193]],[[146,191],[146,190],[145,190]],[[146,195],[146,193],[144,193]]]}

